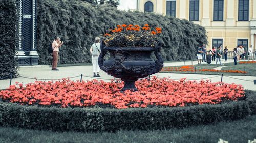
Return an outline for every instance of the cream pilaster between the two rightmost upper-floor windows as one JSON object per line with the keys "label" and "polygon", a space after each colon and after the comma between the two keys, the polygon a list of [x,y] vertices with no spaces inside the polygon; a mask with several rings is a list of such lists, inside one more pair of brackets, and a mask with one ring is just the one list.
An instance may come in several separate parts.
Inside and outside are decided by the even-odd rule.
{"label": "cream pilaster between the two rightmost upper-floor windows", "polygon": [[235,20],[234,20],[234,1],[233,0],[227,0],[226,26],[227,27],[234,27],[235,26]]}

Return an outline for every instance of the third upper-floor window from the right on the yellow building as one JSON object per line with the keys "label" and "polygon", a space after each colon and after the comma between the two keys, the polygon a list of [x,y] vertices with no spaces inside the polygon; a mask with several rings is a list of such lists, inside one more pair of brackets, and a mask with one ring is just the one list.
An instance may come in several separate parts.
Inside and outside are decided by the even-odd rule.
{"label": "third upper-floor window from the right on the yellow building", "polygon": [[199,20],[199,0],[190,0],[189,3],[189,20]]}

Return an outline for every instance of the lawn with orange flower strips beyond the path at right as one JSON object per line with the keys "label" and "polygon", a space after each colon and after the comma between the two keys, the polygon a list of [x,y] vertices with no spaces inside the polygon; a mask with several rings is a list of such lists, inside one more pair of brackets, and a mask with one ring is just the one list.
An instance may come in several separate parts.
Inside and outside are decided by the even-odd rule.
{"label": "lawn with orange flower strips beyond the path at right", "polygon": [[[220,65],[216,64],[201,64],[201,65],[194,65],[194,67],[197,66],[197,69],[214,69],[217,67],[220,67]],[[245,67],[245,75],[246,76],[256,76],[256,64],[239,64],[233,65],[233,63],[226,63],[221,68],[221,70],[240,70],[243,71]],[[172,67],[181,67],[181,66],[172,66]],[[191,74],[194,72],[182,72],[182,71],[164,71],[163,73],[186,73]],[[208,75],[236,75],[236,76],[243,76],[243,73],[226,73],[226,72],[202,72],[202,71],[196,71],[196,74],[208,74]]]}

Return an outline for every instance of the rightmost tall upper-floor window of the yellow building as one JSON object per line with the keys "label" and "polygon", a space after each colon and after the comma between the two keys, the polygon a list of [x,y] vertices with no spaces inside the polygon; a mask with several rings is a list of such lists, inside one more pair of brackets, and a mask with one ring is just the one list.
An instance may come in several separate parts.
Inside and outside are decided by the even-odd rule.
{"label": "rightmost tall upper-floor window of the yellow building", "polygon": [[238,21],[249,20],[249,0],[239,0]]}

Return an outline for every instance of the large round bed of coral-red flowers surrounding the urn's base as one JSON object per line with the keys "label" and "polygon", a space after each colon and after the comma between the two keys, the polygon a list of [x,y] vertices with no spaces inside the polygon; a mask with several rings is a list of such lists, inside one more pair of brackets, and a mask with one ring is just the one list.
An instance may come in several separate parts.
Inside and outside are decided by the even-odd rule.
{"label": "large round bed of coral-red flowers surrounding the urn's base", "polygon": [[174,81],[169,78],[151,78],[136,82],[138,92],[119,92],[120,82],[83,81],[67,79],[56,82],[39,82],[23,86],[17,83],[0,91],[3,101],[22,105],[60,107],[113,106],[117,109],[150,106],[190,106],[218,104],[238,100],[244,96],[241,85],[212,83],[211,81]]}

